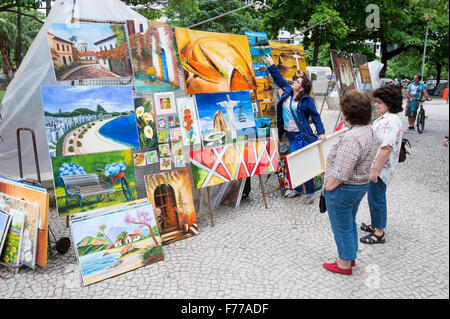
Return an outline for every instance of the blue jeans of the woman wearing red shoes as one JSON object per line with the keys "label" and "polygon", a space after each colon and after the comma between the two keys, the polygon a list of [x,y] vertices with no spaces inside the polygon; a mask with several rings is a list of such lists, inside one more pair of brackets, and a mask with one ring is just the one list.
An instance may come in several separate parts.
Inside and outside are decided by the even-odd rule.
{"label": "blue jeans of the woman wearing red shoes", "polygon": [[341,260],[356,259],[358,251],[356,213],[367,188],[368,184],[341,184],[332,191],[324,193],[334,241]]}

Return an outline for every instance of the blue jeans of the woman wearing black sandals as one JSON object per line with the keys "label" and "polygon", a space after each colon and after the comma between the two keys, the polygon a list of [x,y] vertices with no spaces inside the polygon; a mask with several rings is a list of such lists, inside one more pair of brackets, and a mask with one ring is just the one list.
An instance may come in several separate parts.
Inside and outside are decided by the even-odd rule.
{"label": "blue jeans of the woman wearing black sandals", "polygon": [[378,177],[378,183],[369,182],[367,200],[369,202],[371,224],[375,228],[385,229],[387,221],[386,184]]}

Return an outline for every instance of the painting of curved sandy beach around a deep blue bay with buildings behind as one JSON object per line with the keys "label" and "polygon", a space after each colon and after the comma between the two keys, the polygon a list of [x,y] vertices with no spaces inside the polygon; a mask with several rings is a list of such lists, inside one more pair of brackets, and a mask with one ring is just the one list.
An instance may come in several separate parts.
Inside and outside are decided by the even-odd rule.
{"label": "painting of curved sandy beach around a deep blue bay with buildings behind", "polygon": [[130,86],[41,86],[51,157],[139,148]]}

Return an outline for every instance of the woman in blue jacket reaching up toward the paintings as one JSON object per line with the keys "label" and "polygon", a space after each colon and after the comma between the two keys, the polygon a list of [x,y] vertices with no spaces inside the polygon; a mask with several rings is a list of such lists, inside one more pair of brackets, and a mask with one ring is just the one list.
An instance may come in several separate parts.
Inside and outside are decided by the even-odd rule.
{"label": "woman in blue jacket reaching up toward the paintings", "polygon": [[[311,92],[311,81],[306,76],[299,77],[291,85],[281,75],[277,66],[274,64],[270,55],[267,55],[266,61],[269,64],[268,70],[275,83],[283,90],[283,94],[277,104],[277,126],[278,137],[281,139],[286,134],[286,142],[289,152],[292,153],[317,141],[311,126],[309,117],[311,117],[319,140],[325,140],[325,129],[323,127],[320,115],[314,105],[314,100],[309,95]],[[286,197],[295,197],[302,193],[303,185],[286,192]],[[306,200],[305,204],[314,202],[314,182],[309,180],[305,182]]]}

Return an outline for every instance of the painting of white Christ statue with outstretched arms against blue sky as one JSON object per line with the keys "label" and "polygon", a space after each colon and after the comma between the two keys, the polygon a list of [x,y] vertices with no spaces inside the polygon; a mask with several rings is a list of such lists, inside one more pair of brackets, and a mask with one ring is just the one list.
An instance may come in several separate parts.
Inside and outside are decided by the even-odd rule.
{"label": "painting of white Christ statue with outstretched arms against blue sky", "polygon": [[197,94],[197,110],[205,146],[229,144],[256,137],[248,91]]}

